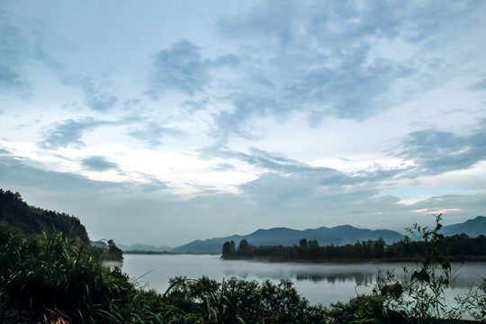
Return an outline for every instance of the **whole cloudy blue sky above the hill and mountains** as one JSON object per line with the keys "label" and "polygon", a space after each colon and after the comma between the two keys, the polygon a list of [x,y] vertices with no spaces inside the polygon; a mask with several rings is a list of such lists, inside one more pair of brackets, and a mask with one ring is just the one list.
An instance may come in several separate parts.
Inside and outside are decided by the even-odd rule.
{"label": "whole cloudy blue sky above the hill and mountains", "polygon": [[90,238],[486,215],[486,2],[0,2],[0,188]]}

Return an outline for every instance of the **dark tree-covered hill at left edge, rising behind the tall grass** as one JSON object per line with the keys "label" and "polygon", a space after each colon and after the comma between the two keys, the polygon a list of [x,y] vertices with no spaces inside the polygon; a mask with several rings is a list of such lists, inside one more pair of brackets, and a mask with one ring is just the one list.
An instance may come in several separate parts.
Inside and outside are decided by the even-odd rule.
{"label": "dark tree-covered hill at left edge, rising behind the tall grass", "polygon": [[67,237],[89,243],[85,226],[76,217],[30,206],[23,202],[20,193],[3,189],[0,189],[0,222],[22,229],[25,235],[45,233],[49,236],[57,230]]}

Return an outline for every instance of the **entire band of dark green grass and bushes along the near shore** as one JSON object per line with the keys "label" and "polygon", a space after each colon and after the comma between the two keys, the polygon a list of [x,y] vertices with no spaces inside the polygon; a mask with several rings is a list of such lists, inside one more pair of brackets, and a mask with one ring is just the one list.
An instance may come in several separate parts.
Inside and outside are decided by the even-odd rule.
{"label": "entire band of dark green grass and bushes along the near shore", "polygon": [[0,226],[2,323],[426,323],[469,314],[486,320],[486,282],[446,305],[454,272],[436,248],[433,230],[415,230],[430,250],[404,278],[381,276],[374,293],[328,308],[312,306],[291,281],[261,284],[231,278],[171,279],[166,293],[145,291],[120,269],[96,261],[79,240],[56,233],[25,237]]}

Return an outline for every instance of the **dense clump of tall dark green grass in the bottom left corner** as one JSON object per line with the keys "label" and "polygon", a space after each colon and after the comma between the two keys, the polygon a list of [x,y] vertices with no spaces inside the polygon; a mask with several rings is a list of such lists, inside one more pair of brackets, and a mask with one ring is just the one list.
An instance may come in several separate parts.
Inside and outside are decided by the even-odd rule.
{"label": "dense clump of tall dark green grass in the bottom left corner", "polygon": [[120,269],[103,268],[75,239],[0,230],[2,323],[124,323],[135,292]]}

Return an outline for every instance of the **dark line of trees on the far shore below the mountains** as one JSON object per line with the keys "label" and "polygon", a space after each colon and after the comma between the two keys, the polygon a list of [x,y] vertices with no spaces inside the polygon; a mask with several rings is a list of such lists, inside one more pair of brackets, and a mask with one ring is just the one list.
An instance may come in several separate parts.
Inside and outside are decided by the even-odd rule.
{"label": "dark line of trees on the far shore below the mountains", "polygon": [[[419,260],[428,251],[423,239],[406,237],[398,242],[386,245],[382,238],[375,241],[356,242],[354,245],[330,245],[320,247],[317,240],[302,238],[299,246],[293,247],[255,247],[247,240],[227,241],[222,247],[223,258],[267,258],[275,260],[366,260],[389,259],[393,261]],[[470,238],[465,234],[443,237],[437,242],[437,249],[450,261],[485,260],[486,237]]]}

